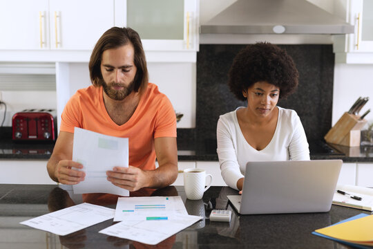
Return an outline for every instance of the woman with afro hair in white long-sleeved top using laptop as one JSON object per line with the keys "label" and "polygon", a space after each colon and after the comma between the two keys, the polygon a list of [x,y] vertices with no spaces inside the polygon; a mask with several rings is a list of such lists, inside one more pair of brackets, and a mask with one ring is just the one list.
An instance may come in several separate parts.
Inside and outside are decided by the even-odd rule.
{"label": "woman with afro hair in white long-sleeved top using laptop", "polygon": [[247,107],[220,116],[218,157],[225,183],[242,190],[246,163],[309,160],[305,130],[296,111],[277,106],[298,86],[298,70],[286,51],[257,43],[242,49],[229,71],[229,89]]}

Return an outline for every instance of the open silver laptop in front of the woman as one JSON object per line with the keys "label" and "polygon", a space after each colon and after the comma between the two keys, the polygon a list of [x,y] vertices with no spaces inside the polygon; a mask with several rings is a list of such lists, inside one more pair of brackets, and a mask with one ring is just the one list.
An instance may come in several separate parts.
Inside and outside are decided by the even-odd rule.
{"label": "open silver laptop in front of the woman", "polygon": [[240,214],[328,212],[342,160],[249,162],[242,195],[229,195]]}

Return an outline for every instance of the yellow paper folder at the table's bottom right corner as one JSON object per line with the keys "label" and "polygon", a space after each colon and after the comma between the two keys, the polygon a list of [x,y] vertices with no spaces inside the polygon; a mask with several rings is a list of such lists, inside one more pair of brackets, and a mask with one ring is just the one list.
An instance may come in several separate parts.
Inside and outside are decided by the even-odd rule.
{"label": "yellow paper folder at the table's bottom right corner", "polygon": [[336,225],[315,230],[332,239],[338,239],[347,243],[364,246],[373,246],[373,216],[367,215],[359,219],[353,219]]}

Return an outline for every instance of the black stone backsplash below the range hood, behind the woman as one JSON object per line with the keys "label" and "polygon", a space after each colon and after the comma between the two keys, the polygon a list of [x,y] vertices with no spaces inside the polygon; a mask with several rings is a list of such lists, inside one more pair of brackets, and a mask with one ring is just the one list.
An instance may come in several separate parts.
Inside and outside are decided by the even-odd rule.
{"label": "black stone backsplash below the range hood, behind the woman", "polygon": [[[332,126],[334,53],[332,45],[279,45],[293,57],[299,71],[298,90],[278,106],[294,109],[307,139],[323,140]],[[195,129],[178,129],[178,138],[215,140],[220,115],[246,106],[227,85],[233,58],[245,45],[200,45],[197,54]]]}

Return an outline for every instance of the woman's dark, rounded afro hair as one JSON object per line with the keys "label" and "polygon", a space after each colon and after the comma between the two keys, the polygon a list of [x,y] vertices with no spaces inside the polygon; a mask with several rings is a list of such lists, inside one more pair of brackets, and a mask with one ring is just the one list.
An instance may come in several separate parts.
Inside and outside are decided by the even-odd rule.
{"label": "woman's dark, rounded afro hair", "polygon": [[228,76],[231,92],[238,100],[246,100],[242,91],[247,91],[256,82],[274,84],[280,89],[279,98],[286,98],[296,90],[299,74],[285,50],[259,42],[240,50],[233,59]]}

